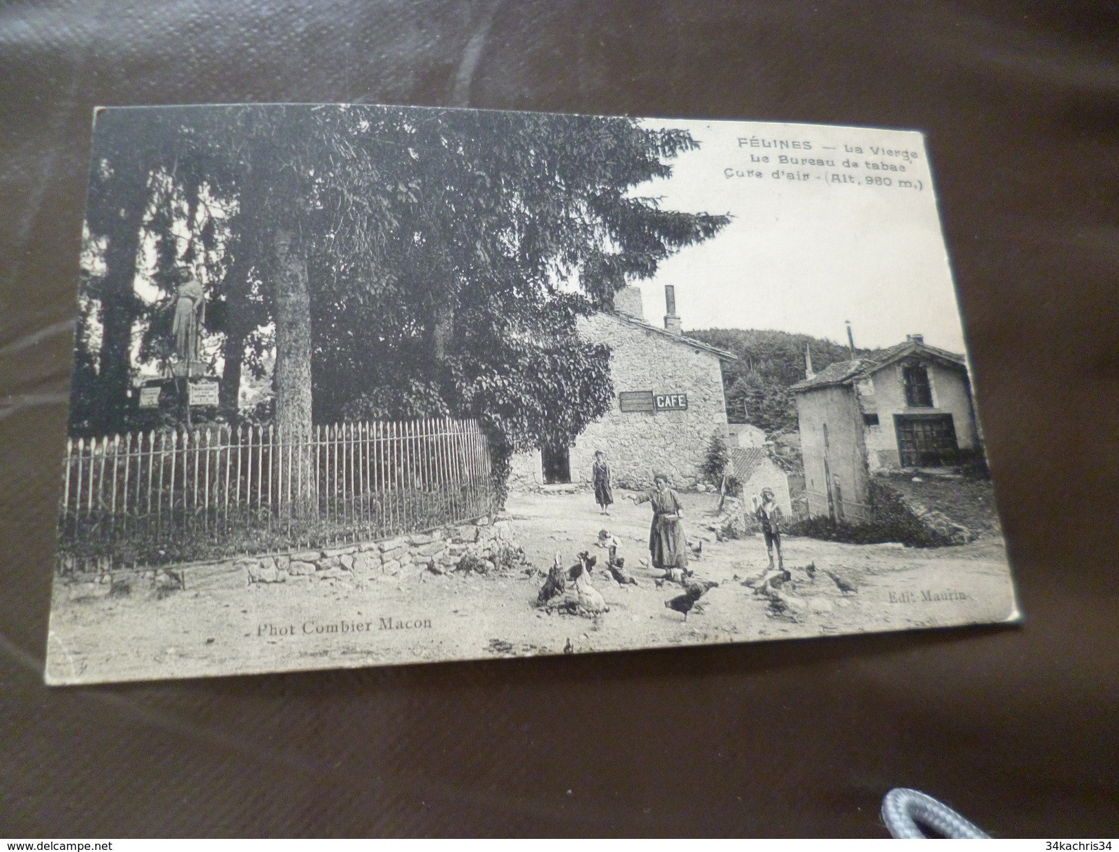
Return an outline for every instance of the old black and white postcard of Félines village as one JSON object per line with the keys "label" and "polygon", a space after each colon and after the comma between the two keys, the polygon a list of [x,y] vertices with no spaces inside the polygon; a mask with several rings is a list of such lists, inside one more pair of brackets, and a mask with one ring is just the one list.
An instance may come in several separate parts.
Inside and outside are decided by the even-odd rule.
{"label": "old black and white postcard of F\u00e9lines village", "polygon": [[1021,618],[920,133],[105,107],[82,236],[48,683]]}

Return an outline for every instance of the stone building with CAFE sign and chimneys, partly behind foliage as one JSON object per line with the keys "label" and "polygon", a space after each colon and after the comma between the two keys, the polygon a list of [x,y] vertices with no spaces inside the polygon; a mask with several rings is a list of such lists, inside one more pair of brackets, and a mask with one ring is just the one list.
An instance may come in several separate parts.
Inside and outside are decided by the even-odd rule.
{"label": "stone building with CAFE sign and chimneys, partly behind foliage", "polygon": [[727,434],[722,362],[734,356],[685,337],[675,292],[665,291],[664,328],[646,322],[637,287],[618,293],[613,311],[580,318],[583,340],[610,347],[613,404],[571,446],[514,456],[510,489],[587,483],[596,449],[615,484],[650,485],[653,471],[675,487],[700,479],[712,437]]}

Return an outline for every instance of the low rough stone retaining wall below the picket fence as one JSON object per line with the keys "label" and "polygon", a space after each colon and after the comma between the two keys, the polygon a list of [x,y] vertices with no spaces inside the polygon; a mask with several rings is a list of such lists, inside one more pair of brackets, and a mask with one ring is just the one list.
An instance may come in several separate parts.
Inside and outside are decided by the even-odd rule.
{"label": "low rough stone retaining wall below the picket fence", "polygon": [[[489,560],[502,546],[514,546],[511,522],[480,518],[473,523],[397,536],[323,550],[241,557],[234,566],[250,584],[292,580],[406,578],[421,571],[453,570],[466,555]],[[492,568],[492,562],[490,564]]]}

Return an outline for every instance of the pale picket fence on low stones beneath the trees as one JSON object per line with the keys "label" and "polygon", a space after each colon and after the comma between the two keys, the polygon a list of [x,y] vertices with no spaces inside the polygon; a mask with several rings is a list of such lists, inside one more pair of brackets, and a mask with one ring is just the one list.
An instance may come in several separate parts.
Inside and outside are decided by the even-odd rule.
{"label": "pale picket fence on low stones beneath the trees", "polygon": [[208,426],[69,439],[59,569],[158,566],[332,547],[489,514],[473,420],[344,423],[285,441]]}

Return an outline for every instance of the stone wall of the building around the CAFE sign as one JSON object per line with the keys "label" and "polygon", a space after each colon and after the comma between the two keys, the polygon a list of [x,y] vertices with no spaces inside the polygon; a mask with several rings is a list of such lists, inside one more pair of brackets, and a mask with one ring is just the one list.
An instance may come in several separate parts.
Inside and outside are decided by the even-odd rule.
{"label": "stone wall of the building around the CAFE sign", "polygon": [[[609,411],[584,429],[571,447],[573,483],[591,482],[594,453],[601,449],[615,484],[652,484],[653,471],[674,486],[694,485],[712,436],[726,436],[726,401],[720,359],[686,339],[599,313],[580,319],[580,337],[611,348],[615,395],[627,390],[687,394],[686,411],[622,411],[617,396]],[[538,486],[540,454],[514,460],[514,490]]]}

